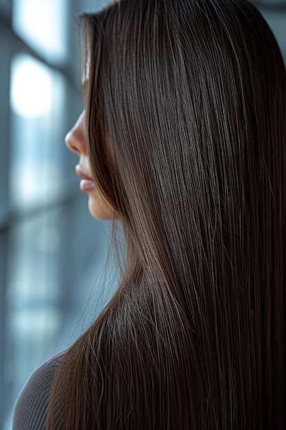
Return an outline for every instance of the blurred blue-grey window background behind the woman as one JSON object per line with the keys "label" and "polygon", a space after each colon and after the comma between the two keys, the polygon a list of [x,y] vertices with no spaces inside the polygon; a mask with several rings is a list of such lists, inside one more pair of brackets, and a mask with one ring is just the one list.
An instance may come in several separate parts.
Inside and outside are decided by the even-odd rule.
{"label": "blurred blue-grey window background behind the woman", "polygon": [[[136,1],[136,0],[134,0]],[[256,1],[286,58],[286,0]],[[93,220],[64,135],[82,111],[73,16],[100,0],[0,0],[0,429],[29,374],[104,306],[108,222]],[[104,281],[110,288],[101,291]]]}

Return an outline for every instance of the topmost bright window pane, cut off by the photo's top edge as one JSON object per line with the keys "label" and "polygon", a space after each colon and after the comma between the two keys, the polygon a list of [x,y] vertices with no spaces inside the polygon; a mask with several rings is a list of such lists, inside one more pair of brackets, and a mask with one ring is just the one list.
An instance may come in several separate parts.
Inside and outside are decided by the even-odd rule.
{"label": "topmost bright window pane, cut off by the photo's top edge", "polygon": [[12,25],[32,48],[52,60],[67,59],[67,0],[14,0]]}

